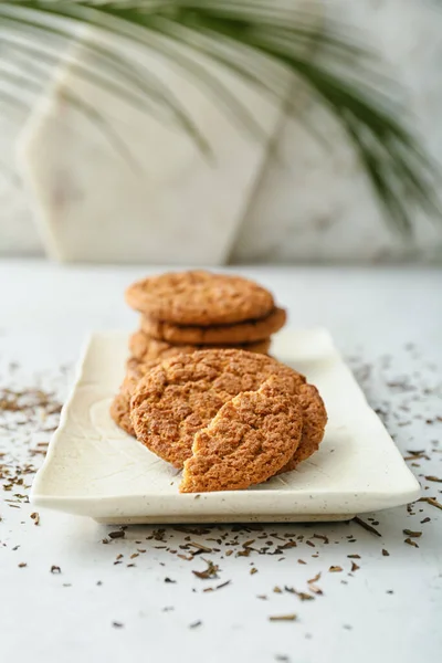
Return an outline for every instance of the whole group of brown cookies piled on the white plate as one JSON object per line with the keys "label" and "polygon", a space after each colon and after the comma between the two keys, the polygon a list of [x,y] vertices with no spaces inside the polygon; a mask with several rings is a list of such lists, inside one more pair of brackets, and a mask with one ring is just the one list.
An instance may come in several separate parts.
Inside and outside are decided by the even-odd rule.
{"label": "whole group of brown cookies piled on the white plate", "polygon": [[110,414],[182,469],[182,493],[246,488],[294,470],[323,440],[313,385],[267,355],[285,323],[269,291],[203,271],[134,283],[141,313]]}

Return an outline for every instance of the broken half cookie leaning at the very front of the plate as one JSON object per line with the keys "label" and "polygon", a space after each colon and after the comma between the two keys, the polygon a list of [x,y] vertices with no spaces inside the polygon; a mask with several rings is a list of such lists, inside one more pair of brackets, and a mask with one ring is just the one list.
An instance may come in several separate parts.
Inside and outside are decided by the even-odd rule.
{"label": "broken half cookie leaning at the very front of the plate", "polygon": [[301,440],[302,408],[290,391],[272,389],[273,379],[228,401],[194,435],[181,493],[248,488],[288,462]]}

